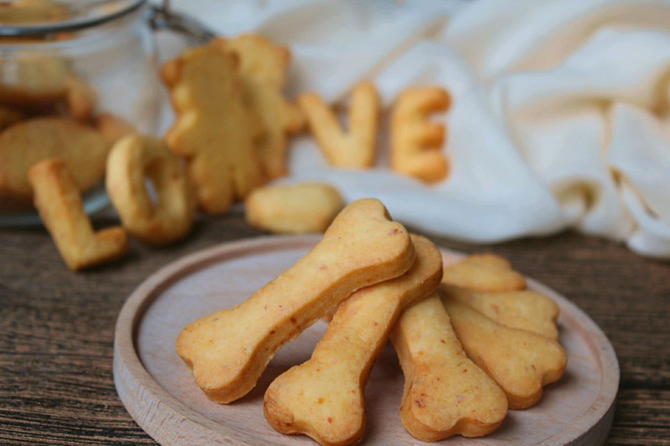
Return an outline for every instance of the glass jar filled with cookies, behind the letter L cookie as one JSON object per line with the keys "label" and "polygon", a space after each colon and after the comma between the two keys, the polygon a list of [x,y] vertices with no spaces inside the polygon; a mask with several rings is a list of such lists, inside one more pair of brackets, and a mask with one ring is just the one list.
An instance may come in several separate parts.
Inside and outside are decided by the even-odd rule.
{"label": "glass jar filled with cookies, behind the letter L cookie", "polygon": [[[117,139],[157,132],[161,92],[147,13],[146,0],[0,3],[0,219],[39,221],[27,179],[16,174],[26,162],[56,158],[74,172],[97,172],[79,185],[86,202],[104,195]],[[95,139],[93,149],[80,146],[81,134]]]}

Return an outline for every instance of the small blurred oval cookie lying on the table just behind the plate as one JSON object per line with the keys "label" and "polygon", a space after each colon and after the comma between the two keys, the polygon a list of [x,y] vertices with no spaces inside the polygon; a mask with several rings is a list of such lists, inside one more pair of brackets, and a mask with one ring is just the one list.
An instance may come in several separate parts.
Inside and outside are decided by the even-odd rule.
{"label": "small blurred oval cookie lying on the table just behind the plate", "polygon": [[323,232],[344,207],[339,191],[324,183],[263,186],[245,202],[247,222],[275,234]]}

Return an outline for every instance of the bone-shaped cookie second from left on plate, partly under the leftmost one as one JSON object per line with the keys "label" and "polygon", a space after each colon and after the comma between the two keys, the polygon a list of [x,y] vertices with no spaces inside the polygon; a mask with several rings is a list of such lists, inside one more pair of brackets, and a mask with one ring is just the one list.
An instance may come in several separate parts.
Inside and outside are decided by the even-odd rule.
{"label": "bone-shaped cookie second from left on plate, partly under the leftmost one", "polygon": [[412,235],[412,241],[412,268],[342,302],[312,358],[270,384],[264,412],[276,430],[307,434],[329,445],[353,444],[363,437],[365,383],[391,327],[406,306],[440,284],[440,251],[421,236]]}

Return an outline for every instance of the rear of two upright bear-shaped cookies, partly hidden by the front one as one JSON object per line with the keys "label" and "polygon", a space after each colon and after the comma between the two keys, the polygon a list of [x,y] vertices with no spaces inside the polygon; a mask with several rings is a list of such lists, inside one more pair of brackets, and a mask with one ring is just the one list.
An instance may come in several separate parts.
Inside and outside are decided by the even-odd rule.
{"label": "rear of two upright bear-shaped cookies, partly hidden by the front one", "polygon": [[297,106],[281,94],[290,62],[289,48],[254,34],[215,42],[239,56],[239,77],[245,94],[264,124],[264,134],[258,139],[258,155],[265,175],[268,178],[286,175],[287,138],[305,125]]}

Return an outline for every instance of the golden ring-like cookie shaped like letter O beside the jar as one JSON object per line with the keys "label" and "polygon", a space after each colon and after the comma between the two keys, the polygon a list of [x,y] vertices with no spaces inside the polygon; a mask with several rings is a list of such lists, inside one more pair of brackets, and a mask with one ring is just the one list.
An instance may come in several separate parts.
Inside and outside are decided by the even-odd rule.
{"label": "golden ring-like cookie shaped like letter O beside the jar", "polygon": [[[154,204],[145,176],[158,194]],[[169,244],[188,234],[196,206],[186,171],[158,138],[126,136],[107,159],[107,193],[131,235],[147,244]]]}

